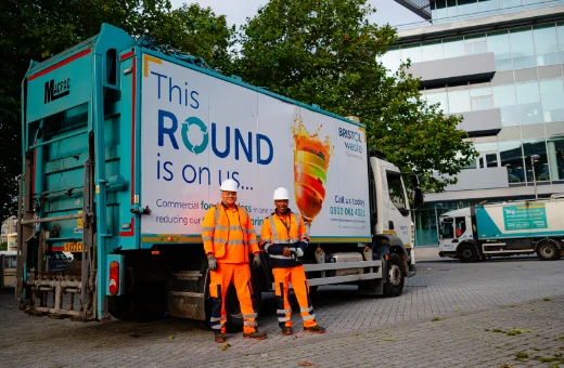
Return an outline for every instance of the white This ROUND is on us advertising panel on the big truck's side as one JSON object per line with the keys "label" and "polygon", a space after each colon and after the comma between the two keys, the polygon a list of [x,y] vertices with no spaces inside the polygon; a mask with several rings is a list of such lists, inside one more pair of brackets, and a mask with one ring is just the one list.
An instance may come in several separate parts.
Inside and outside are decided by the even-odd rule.
{"label": "white This ROUND is on us advertising panel on the big truck's side", "polygon": [[178,234],[200,242],[229,178],[257,234],[283,186],[313,241],[371,241],[362,126],[146,53],[142,65],[144,241]]}

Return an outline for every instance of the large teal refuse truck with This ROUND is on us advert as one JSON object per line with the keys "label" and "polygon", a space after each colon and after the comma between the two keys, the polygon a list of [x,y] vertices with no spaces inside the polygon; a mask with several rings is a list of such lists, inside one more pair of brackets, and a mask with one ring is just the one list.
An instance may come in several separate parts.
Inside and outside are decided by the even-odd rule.
{"label": "large teal refuse truck with This ROUND is on us advert", "polygon": [[[153,320],[209,315],[202,220],[220,183],[239,184],[257,234],[272,193],[309,225],[311,288],[356,284],[399,295],[415,273],[418,175],[368,152],[366,128],[223,76],[150,35],[101,32],[23,80],[16,298],[29,315]],[[408,197],[409,196],[409,197]],[[412,202],[410,205],[410,201]],[[46,253],[73,261],[53,272]],[[254,302],[272,290],[268,255]],[[233,288],[228,324],[241,326]]]}

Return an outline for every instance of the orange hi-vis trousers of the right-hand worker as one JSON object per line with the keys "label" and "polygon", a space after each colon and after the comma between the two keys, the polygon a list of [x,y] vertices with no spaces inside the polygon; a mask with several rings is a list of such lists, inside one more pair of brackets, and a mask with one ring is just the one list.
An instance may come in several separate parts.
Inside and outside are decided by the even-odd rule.
{"label": "orange hi-vis trousers of the right-hand worker", "polygon": [[304,319],[304,327],[317,326],[316,313],[309,297],[309,285],[306,280],[304,266],[277,267],[272,268],[274,274],[275,295],[278,301],[278,325],[280,328],[292,327],[292,307],[287,301],[287,284],[292,282],[292,288],[296,294],[299,312]]}

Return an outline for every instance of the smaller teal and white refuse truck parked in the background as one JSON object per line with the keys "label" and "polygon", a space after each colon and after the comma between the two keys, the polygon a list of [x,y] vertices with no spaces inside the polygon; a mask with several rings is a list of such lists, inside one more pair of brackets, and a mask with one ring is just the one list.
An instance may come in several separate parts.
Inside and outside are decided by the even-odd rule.
{"label": "smaller teal and white refuse truck parked in the background", "polygon": [[478,205],[440,215],[439,255],[476,262],[533,254],[554,261],[564,253],[564,196]]}

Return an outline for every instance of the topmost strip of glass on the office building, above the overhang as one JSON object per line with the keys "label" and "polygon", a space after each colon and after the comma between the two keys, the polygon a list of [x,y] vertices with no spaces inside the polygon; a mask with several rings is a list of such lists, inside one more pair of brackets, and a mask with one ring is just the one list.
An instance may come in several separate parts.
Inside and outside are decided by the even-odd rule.
{"label": "topmost strip of glass on the office building, above the overhang", "polygon": [[435,0],[431,1],[433,24],[554,6],[562,0]]}

